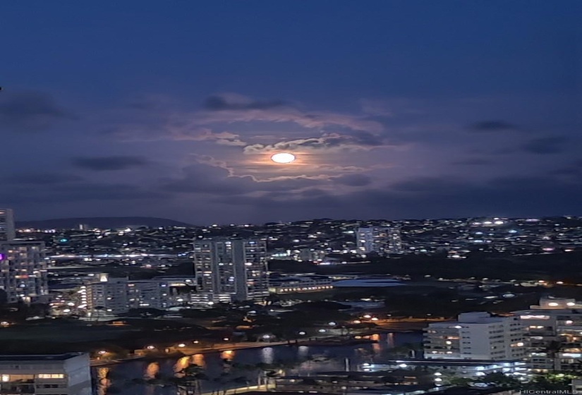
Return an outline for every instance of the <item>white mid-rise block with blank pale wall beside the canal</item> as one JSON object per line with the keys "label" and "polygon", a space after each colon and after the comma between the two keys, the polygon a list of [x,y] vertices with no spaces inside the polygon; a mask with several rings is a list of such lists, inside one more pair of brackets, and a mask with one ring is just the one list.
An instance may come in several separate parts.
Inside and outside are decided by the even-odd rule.
{"label": "white mid-rise block with blank pale wall beside the canal", "polygon": [[492,317],[466,312],[455,322],[435,322],[425,328],[427,359],[517,360],[525,356],[518,317]]}

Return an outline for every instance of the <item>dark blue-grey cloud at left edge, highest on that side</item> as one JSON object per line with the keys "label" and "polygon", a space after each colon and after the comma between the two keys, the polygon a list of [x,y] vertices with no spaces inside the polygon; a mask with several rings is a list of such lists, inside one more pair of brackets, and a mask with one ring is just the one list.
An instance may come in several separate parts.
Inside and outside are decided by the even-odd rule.
{"label": "dark blue-grey cloud at left edge, highest on that side", "polygon": [[0,95],[0,128],[17,132],[45,130],[54,123],[75,119],[56,104],[53,97],[41,92],[18,92]]}

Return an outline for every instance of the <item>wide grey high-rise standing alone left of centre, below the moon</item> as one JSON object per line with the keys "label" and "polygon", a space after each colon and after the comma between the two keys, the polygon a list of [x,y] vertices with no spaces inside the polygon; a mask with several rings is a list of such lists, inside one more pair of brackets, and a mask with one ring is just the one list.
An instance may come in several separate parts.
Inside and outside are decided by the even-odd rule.
{"label": "wide grey high-rise standing alone left of centre, below the moon", "polygon": [[200,293],[230,294],[233,300],[263,300],[269,296],[265,241],[197,240],[194,269]]}

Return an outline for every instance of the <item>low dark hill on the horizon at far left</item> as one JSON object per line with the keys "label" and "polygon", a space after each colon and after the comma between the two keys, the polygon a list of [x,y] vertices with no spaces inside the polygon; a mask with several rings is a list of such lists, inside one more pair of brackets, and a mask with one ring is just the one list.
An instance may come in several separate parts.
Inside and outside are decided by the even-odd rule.
{"label": "low dark hill on the horizon at far left", "polygon": [[155,217],[89,217],[89,218],[59,218],[44,219],[42,221],[18,221],[18,228],[33,229],[78,229],[80,224],[90,228],[117,229],[126,226],[192,226],[186,222],[174,221],[174,219]]}

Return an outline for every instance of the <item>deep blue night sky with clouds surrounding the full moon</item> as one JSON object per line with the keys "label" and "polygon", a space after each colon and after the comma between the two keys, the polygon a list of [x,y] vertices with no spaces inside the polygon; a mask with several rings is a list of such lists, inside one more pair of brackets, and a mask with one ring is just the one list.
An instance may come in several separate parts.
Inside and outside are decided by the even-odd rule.
{"label": "deep blue night sky with clouds surrounding the full moon", "polygon": [[4,1],[0,206],[581,215],[580,20],[577,0]]}

